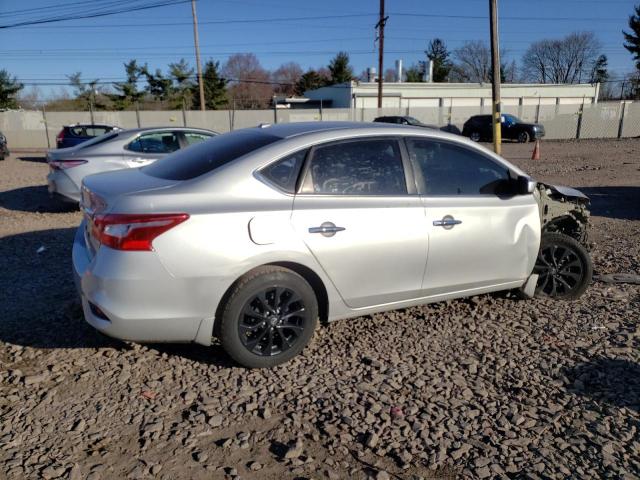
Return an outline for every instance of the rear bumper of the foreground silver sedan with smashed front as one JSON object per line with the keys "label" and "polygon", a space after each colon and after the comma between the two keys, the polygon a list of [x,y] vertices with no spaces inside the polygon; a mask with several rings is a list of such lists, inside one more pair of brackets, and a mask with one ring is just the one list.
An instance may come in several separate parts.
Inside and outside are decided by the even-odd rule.
{"label": "rear bumper of the foreground silver sedan with smashed front", "polygon": [[91,258],[84,229],[83,221],[72,258],[87,323],[121,340],[193,341],[206,316],[197,311],[202,302],[194,302],[194,295],[203,290],[202,282],[172,276],[154,252],[101,247]]}

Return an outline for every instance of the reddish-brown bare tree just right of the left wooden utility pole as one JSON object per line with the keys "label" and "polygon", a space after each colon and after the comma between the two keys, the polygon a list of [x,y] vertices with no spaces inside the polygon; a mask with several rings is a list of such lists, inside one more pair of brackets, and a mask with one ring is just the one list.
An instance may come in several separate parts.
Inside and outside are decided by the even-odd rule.
{"label": "reddish-brown bare tree just right of the left wooden utility pole", "polygon": [[236,53],[224,64],[222,75],[229,81],[229,97],[238,108],[266,108],[273,96],[273,84],[258,57]]}

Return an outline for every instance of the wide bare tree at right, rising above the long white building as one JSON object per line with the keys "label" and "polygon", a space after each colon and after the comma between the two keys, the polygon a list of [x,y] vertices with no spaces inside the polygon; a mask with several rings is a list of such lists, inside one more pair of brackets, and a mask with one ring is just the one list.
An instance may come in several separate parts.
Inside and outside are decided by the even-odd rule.
{"label": "wide bare tree at right, rising above the long white building", "polygon": [[579,83],[589,79],[600,42],[593,32],[574,32],[559,40],[534,42],[522,57],[528,80],[539,83]]}

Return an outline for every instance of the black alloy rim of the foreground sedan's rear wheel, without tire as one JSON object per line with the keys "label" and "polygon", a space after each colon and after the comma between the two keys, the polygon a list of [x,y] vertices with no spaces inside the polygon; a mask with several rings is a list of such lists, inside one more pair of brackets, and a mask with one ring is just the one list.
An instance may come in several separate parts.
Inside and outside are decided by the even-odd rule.
{"label": "black alloy rim of the foreground sedan's rear wheel, without tire", "polygon": [[278,355],[300,340],[309,312],[302,297],[285,287],[253,295],[238,322],[238,335],[247,350],[261,356]]}

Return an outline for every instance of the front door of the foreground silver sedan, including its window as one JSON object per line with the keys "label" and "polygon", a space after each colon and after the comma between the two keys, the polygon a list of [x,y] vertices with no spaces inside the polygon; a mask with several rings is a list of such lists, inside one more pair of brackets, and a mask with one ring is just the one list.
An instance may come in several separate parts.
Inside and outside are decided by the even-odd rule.
{"label": "front door of the foreground silver sedan, including its window", "polygon": [[527,278],[540,245],[538,205],[532,194],[510,193],[508,168],[448,141],[410,138],[407,150],[429,234],[424,294],[499,287]]}

